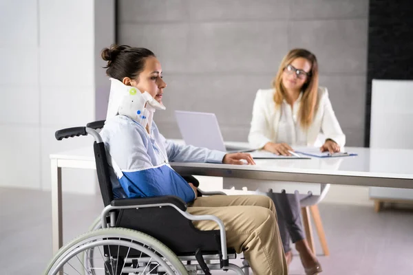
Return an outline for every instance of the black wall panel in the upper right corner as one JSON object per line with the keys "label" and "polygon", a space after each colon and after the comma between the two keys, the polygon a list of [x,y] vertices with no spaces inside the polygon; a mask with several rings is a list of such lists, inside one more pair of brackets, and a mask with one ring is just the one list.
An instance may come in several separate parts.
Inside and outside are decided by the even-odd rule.
{"label": "black wall panel in the upper right corner", "polygon": [[413,79],[412,0],[370,0],[365,128],[366,146],[369,146],[370,143],[372,79]]}

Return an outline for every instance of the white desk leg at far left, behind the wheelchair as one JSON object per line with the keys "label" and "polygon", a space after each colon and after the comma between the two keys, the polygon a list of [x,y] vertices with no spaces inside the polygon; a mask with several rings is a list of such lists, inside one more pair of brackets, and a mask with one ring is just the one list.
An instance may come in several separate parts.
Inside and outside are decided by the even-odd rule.
{"label": "white desk leg at far left, behind the wheelchair", "polygon": [[57,159],[51,159],[52,168],[52,246],[53,254],[63,246],[62,220],[62,168]]}

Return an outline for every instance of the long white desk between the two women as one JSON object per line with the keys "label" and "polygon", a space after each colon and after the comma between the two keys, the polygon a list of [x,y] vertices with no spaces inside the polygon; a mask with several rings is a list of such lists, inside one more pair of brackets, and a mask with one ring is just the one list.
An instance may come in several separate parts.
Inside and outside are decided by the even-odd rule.
{"label": "long white desk between the two women", "polygon": [[[297,183],[345,184],[413,188],[413,150],[369,149],[347,147],[357,157],[328,159],[256,159],[255,166],[228,164],[195,164],[173,162],[181,174],[254,179],[248,188],[262,188],[262,181],[295,181]],[[52,244],[55,253],[63,245],[62,168],[95,169],[93,147],[78,148],[50,155],[52,165]],[[258,182],[258,184],[255,184]],[[245,184],[244,183],[242,185]],[[265,185],[265,184],[264,184]],[[297,185],[297,184],[295,184]],[[238,186],[242,187],[242,186]]]}

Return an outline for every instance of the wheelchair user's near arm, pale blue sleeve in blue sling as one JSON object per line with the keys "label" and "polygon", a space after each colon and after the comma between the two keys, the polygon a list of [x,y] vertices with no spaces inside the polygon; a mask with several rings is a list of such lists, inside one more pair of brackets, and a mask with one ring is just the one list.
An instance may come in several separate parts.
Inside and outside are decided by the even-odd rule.
{"label": "wheelchair user's near arm, pale blue sleeve in blue sling", "polygon": [[193,201],[195,193],[187,181],[166,163],[153,163],[156,157],[148,154],[150,142],[144,131],[129,124],[114,133],[107,146],[112,164],[115,161],[120,168],[116,174],[127,197],[174,195]]}

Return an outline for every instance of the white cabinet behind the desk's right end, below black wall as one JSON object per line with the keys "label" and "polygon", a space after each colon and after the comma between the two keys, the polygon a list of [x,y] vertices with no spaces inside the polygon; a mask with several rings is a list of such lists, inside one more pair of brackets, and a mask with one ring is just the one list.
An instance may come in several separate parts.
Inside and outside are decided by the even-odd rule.
{"label": "white cabinet behind the desk's right end, below black wall", "polygon": [[[413,149],[413,81],[372,80],[370,147]],[[372,158],[373,166],[385,166]],[[405,164],[412,167],[412,164]],[[391,169],[392,167],[387,167]],[[412,189],[370,188],[375,199],[413,200]]]}

